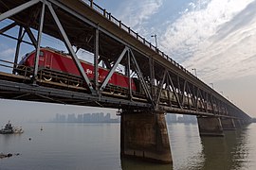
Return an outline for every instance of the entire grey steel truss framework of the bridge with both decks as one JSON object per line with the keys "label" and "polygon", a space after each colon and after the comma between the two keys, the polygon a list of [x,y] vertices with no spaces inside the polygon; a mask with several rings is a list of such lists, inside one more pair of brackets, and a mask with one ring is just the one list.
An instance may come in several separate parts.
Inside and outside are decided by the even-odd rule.
{"label": "entire grey steel truss framework of the bridge with both decks", "polygon": [[[0,0],[0,12],[0,22],[11,21],[9,26],[0,29],[0,34],[17,41],[13,74],[21,43],[33,45],[36,51],[32,76],[1,73],[2,98],[250,119],[243,110],[92,0]],[[17,37],[7,33],[13,27],[19,27]],[[25,34],[29,42],[24,40]],[[81,74],[84,88],[41,78],[38,59],[43,34],[64,42]],[[89,79],[82,69],[73,47],[94,54],[94,79]],[[99,82],[100,61],[109,69],[103,82]],[[0,62],[0,66],[5,66],[6,61],[0,59]],[[129,86],[126,91],[112,93],[108,90],[108,81],[119,65],[125,67]],[[133,75],[140,93],[132,91]]]}

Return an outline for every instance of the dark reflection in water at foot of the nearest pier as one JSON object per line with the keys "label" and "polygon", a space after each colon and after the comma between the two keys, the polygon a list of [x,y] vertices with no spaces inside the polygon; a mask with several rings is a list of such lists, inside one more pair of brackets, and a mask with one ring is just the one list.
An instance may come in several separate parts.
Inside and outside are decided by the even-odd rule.
{"label": "dark reflection in water at foot of the nearest pier", "polygon": [[152,162],[137,161],[133,159],[121,159],[122,170],[173,170],[170,164],[157,164]]}

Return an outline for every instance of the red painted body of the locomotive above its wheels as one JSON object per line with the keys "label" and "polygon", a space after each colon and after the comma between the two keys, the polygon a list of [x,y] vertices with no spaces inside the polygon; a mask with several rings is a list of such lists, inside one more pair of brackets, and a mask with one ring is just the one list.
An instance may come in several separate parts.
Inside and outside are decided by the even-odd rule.
{"label": "red painted body of the locomotive above its wheels", "polygon": [[[27,54],[26,57],[20,61],[19,65],[26,66],[27,68],[32,68],[34,67],[34,58],[35,58],[35,51]],[[91,81],[93,81],[93,78],[94,78],[93,64],[88,63],[82,59],[80,59],[80,62],[88,78]],[[46,48],[40,49],[38,66],[39,66],[39,71],[42,71],[42,70],[52,71],[50,72],[50,75],[44,76],[46,81],[51,81],[53,79],[52,77],[54,76],[54,74],[52,73],[58,73],[55,75],[55,77],[57,75],[69,75],[69,77],[71,76],[80,77],[80,72],[75,62],[73,61],[73,59],[67,54],[54,50],[52,48],[46,47]],[[99,83],[101,83],[104,80],[104,78],[108,75],[108,73],[109,73],[109,70],[99,67]],[[111,76],[111,78],[109,79],[108,84],[112,86],[128,89],[129,77],[123,76],[115,72],[113,76]],[[131,84],[132,84],[132,90],[136,91],[137,88],[136,88],[135,81],[133,79],[131,79]]]}

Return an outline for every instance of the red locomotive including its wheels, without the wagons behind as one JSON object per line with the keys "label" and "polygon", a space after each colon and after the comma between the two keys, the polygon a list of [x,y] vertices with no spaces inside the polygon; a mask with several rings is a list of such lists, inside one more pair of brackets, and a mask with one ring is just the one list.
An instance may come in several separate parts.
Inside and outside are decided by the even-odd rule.
{"label": "red locomotive including its wheels, without the wagons behind", "polygon": [[[35,54],[36,52],[32,51],[27,53],[27,55],[20,60],[17,69],[17,73],[19,75],[24,74],[25,68],[30,68],[32,70],[34,67]],[[80,63],[85,74],[93,84],[95,75],[94,65],[82,59],[80,59]],[[80,83],[82,81],[82,76],[74,60],[68,54],[65,54],[62,51],[50,47],[41,48],[39,53],[38,70],[39,76],[42,76],[42,79],[44,78],[46,81],[59,81],[61,83],[67,83],[67,81],[71,80],[76,86],[82,86],[82,83]],[[109,70],[99,67],[100,84],[103,82],[108,73]],[[137,91],[138,89],[135,81],[136,80],[134,78],[131,78],[132,91]],[[108,86],[128,90],[129,77],[115,72],[109,79]]]}

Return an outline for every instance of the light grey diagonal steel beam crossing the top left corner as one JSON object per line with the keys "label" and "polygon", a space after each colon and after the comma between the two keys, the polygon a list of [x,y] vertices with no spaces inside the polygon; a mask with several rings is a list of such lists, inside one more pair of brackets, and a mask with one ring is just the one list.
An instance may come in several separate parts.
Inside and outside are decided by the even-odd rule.
{"label": "light grey diagonal steel beam crossing the top left corner", "polygon": [[29,8],[35,4],[37,4],[38,2],[40,2],[40,0],[31,0],[31,1],[28,1],[27,3],[23,4],[23,5],[20,5],[16,8],[12,8],[4,13],[2,13],[0,15],[0,22],[11,17],[12,15],[15,15],[16,13],[19,13],[20,11],[26,9],[26,8]]}

